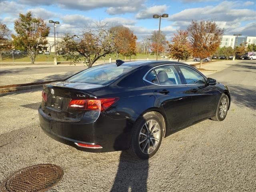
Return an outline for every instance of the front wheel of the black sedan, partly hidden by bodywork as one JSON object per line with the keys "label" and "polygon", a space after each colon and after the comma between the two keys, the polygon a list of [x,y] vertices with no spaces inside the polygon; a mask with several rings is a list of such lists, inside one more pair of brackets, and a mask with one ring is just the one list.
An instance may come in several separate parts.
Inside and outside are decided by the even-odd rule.
{"label": "front wheel of the black sedan, partly hidden by bodywork", "polygon": [[222,94],[217,106],[216,115],[211,119],[214,121],[223,121],[228,113],[229,99],[226,94]]}

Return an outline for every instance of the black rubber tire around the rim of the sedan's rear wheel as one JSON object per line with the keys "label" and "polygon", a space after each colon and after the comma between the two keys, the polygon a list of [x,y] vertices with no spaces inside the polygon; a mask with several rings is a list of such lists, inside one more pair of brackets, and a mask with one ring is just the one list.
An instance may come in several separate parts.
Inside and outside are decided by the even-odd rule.
{"label": "black rubber tire around the rim of the sedan's rear wheel", "polygon": [[[145,154],[144,152],[142,152],[142,149],[140,146],[143,143],[139,144],[139,139],[140,139],[140,132],[141,132],[142,128],[144,127],[146,122],[148,122],[149,120],[153,120],[159,124],[160,133],[158,133],[158,134],[160,134],[160,138],[159,138],[156,148],[154,148],[153,151],[150,152],[149,154]],[[160,113],[148,112],[148,113],[144,114],[141,118],[139,118],[135,122],[135,124],[132,128],[132,138],[131,138],[130,147],[129,147],[128,152],[130,154],[132,154],[133,156],[135,156],[136,158],[140,158],[140,159],[148,159],[148,158],[152,157],[154,154],[156,154],[156,152],[158,151],[158,149],[161,145],[162,138],[163,138],[163,127],[164,127],[164,121],[163,121],[163,117]],[[156,141],[155,141],[155,143],[156,143]],[[149,145],[150,145],[150,142],[149,142]]]}

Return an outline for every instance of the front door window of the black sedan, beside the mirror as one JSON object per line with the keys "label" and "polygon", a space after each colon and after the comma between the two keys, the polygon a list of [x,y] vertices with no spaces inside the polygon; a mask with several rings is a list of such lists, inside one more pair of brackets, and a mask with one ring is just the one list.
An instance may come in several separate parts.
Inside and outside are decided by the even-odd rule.
{"label": "front door window of the black sedan, beside the mirror", "polygon": [[205,78],[190,67],[179,65],[180,70],[186,80],[186,84],[205,84]]}

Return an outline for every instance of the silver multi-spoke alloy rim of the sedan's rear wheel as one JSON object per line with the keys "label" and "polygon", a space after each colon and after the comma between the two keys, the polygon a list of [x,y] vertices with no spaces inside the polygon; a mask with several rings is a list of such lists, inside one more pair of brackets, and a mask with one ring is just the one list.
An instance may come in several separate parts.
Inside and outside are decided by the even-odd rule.
{"label": "silver multi-spoke alloy rim of the sedan's rear wheel", "polygon": [[160,142],[161,128],[156,120],[148,120],[141,128],[139,135],[140,150],[144,154],[154,152]]}

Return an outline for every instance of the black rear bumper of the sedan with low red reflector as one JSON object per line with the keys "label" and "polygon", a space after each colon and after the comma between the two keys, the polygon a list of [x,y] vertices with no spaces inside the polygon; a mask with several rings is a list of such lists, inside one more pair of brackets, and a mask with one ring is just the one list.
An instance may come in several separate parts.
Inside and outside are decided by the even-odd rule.
{"label": "black rear bumper of the sedan with low red reflector", "polygon": [[[46,135],[78,150],[109,152],[129,148],[134,120],[113,119],[100,114],[99,118],[90,124],[83,124],[82,121],[62,122],[46,116],[41,107],[38,109],[38,115],[40,127]],[[79,146],[78,144],[84,145]],[[90,146],[88,148],[87,145],[97,147],[91,148]]]}

